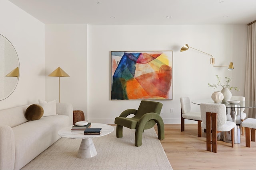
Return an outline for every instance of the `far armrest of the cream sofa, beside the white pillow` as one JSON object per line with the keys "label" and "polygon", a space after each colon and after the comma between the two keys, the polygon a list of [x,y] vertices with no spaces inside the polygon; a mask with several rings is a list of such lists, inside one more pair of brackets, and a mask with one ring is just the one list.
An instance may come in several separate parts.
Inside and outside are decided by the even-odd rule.
{"label": "far armrest of the cream sofa, beside the white pillow", "polygon": [[58,115],[67,115],[70,119],[70,125],[73,124],[73,106],[70,103],[56,103],[56,113]]}

